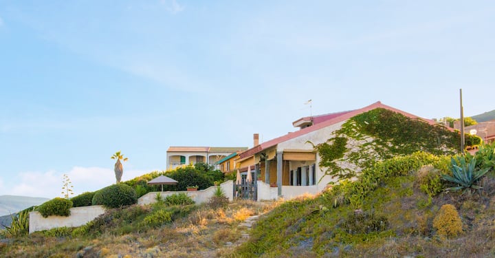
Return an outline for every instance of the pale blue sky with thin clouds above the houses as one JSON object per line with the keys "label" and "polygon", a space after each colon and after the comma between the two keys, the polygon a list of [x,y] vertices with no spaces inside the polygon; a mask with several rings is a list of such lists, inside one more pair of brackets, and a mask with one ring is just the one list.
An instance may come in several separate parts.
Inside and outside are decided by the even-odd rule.
{"label": "pale blue sky with thin clouds above the houses", "polygon": [[381,100],[495,109],[493,1],[0,0],[0,195],[61,196]]}

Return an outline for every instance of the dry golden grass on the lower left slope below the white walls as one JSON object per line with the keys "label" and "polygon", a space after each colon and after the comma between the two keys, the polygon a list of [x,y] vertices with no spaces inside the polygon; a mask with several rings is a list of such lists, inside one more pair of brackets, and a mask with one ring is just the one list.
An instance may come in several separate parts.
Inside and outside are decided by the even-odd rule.
{"label": "dry golden grass on the lower left slope below the white walls", "polygon": [[36,233],[1,242],[0,257],[236,257],[232,250],[243,239],[239,223],[278,204],[236,201],[218,209],[203,205],[171,224],[122,235],[56,238]]}

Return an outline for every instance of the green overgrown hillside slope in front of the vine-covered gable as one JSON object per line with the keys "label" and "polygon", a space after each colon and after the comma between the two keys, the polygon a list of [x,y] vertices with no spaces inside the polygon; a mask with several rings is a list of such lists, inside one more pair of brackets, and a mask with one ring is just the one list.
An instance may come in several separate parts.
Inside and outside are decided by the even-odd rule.
{"label": "green overgrown hillside slope in front of the vine-covered gable", "polygon": [[[356,182],[285,202],[259,219],[236,256],[494,257],[494,173],[476,193],[438,193],[445,186],[437,169],[445,161],[420,153],[393,158]],[[459,216],[443,218],[445,204]],[[442,235],[445,230],[452,234]]]}

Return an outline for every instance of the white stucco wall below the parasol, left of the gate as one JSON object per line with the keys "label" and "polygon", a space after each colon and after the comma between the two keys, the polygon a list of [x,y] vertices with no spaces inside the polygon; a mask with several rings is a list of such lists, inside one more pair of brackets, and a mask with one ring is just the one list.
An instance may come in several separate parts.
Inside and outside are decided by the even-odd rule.
{"label": "white stucco wall below the parasol, left of the gate", "polygon": [[[228,180],[227,182],[223,182],[220,184],[221,189],[223,190],[223,193],[225,193],[225,197],[228,197],[229,201],[233,200],[233,193],[234,193],[234,185],[232,180]],[[195,201],[197,204],[201,204],[203,202],[208,202],[210,200],[210,197],[213,196],[214,191],[217,189],[217,186],[210,186],[207,189],[199,190],[199,191],[166,191],[166,192],[151,192],[151,193],[146,193],[146,195],[143,195],[137,200],[137,204],[153,204],[156,202],[155,197],[157,193],[160,193],[162,195],[162,198],[167,197],[168,195],[173,195],[177,193],[186,193],[193,201]]]}

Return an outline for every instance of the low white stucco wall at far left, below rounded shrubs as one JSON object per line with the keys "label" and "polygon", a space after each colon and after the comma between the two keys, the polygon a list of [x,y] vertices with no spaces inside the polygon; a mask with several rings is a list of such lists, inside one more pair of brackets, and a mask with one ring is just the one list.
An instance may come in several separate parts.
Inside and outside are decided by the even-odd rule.
{"label": "low white stucco wall at far left, below rounded shrubs", "polygon": [[91,220],[95,219],[99,215],[102,215],[105,212],[105,209],[103,206],[95,205],[71,208],[70,211],[71,215],[69,217],[43,217],[38,211],[30,212],[30,233],[63,226],[82,226],[88,222],[91,222]]}

